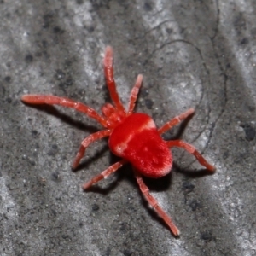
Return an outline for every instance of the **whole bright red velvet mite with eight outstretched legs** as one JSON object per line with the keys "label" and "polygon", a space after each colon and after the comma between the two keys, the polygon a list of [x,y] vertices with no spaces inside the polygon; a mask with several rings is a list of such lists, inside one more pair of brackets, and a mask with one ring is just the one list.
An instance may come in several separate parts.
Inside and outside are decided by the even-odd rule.
{"label": "whole bright red velvet mite with eight outstretched legs", "polygon": [[118,162],[109,166],[101,174],[93,177],[88,183],[84,183],[83,189],[89,189],[91,185],[108,177],[113,172],[117,171],[125,163],[130,162],[133,167],[134,175],[137,179],[139,188],[141,189],[148,204],[154,208],[154,211],[160,215],[174,236],[179,236],[179,230],[173,224],[166,212],[160,207],[158,202],[152,195],[149,194],[148,187],[143,182],[143,176],[159,178],[171,172],[172,169],[172,153],[169,148],[180,147],[187,150],[190,154],[194,154],[195,158],[207,170],[213,172],[215,167],[210,165],[202,155],[189,143],[182,140],[164,141],[161,134],[171,129],[174,125],[179,124],[183,119],[186,119],[195,110],[190,108],[185,113],[168,121],[159,129],[154,124],[154,120],[145,113],[133,113],[137,95],[142,85],[143,76],[137,76],[135,85],[131,90],[128,110],[119,100],[119,95],[116,90],[115,81],[113,79],[113,49],[108,46],[104,57],[104,73],[108,91],[113,101],[113,104],[106,103],[102,107],[102,114],[96,113],[96,110],[84,105],[81,102],[73,102],[73,100],[51,95],[24,95],[22,102],[29,104],[49,104],[61,105],[67,108],[74,108],[82,113],[85,113],[91,119],[96,119],[104,130],[97,131],[86,137],[81,143],[79,152],[73,161],[73,169],[79,166],[79,162],[84,156],[85,149],[90,143],[109,137],[108,145],[111,152],[121,158]]}

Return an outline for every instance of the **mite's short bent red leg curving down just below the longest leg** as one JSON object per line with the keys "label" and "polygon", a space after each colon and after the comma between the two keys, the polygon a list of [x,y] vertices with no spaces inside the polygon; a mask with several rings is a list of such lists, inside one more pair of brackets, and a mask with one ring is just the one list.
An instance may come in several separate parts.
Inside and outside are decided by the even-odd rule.
{"label": "mite's short bent red leg curving down just below the longest leg", "polygon": [[74,170],[77,166],[79,166],[79,162],[84,156],[86,148],[90,145],[90,143],[95,142],[96,140],[101,139],[102,137],[107,137],[111,133],[110,130],[105,131],[98,131],[96,133],[90,134],[90,136],[86,137],[84,141],[81,143],[81,146],[79,148],[79,152],[76,155],[75,160],[73,161],[72,169]]}

